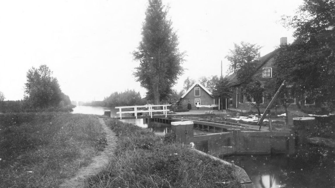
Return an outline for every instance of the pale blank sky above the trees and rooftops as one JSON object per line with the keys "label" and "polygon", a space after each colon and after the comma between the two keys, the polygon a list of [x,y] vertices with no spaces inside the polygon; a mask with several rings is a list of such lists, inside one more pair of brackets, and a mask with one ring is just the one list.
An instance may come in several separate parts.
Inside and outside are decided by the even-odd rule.
{"label": "pale blank sky above the trees and rooftops", "polygon": [[[224,58],[233,43],[257,43],[261,56],[293,42],[280,23],[302,0],[162,0],[186,51],[187,77],[227,74]],[[0,1],[0,91],[5,100],[24,96],[26,72],[46,64],[72,101],[100,101],[127,89],[146,90],[132,73],[132,52],[141,41],[147,0]]]}

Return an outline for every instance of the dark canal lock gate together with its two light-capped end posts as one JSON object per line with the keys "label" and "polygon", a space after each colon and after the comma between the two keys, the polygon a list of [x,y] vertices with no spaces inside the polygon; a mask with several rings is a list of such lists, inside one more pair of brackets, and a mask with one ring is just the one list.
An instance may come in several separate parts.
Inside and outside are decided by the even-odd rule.
{"label": "dark canal lock gate together with its two light-capped end posts", "polygon": [[[313,119],[313,118],[312,118]],[[241,131],[193,136],[193,122],[171,122],[176,139],[184,144],[194,142],[195,148],[213,156],[235,154],[293,154],[297,142],[304,142],[306,131],[314,125],[314,119],[298,118],[293,131]],[[298,122],[296,122],[298,121]],[[302,122],[303,121],[303,122]],[[212,125],[213,126],[213,125]],[[220,128],[222,128],[220,126]]]}

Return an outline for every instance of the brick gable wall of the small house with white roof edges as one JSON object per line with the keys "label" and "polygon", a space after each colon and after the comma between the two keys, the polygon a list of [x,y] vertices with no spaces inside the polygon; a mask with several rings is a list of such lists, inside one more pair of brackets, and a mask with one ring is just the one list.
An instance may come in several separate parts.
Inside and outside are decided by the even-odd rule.
{"label": "brick gable wall of the small house with white roof edges", "polygon": [[[194,96],[194,88],[199,87],[200,88],[200,97]],[[183,108],[187,109],[187,104],[190,101],[192,110],[196,109],[195,106],[195,99],[200,99],[200,105],[213,105],[213,97],[210,96],[202,87],[199,85],[195,85],[190,92],[186,94],[184,98],[182,98],[182,106]],[[200,107],[202,110],[209,110],[207,107]]]}

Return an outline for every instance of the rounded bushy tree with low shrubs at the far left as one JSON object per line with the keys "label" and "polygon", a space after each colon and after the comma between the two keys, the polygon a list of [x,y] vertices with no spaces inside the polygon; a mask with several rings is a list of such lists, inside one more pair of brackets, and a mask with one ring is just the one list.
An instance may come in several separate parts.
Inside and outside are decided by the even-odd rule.
{"label": "rounded bushy tree with low shrubs at the far left", "polygon": [[72,111],[74,106],[69,96],[62,92],[47,65],[30,68],[26,78],[23,100],[5,101],[0,91],[0,112]]}

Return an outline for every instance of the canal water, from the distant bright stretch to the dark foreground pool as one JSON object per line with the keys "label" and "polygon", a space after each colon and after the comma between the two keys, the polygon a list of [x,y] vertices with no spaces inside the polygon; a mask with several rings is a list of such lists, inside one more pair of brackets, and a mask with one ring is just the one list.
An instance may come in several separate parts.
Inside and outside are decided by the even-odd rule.
{"label": "canal water, from the distant bright stretch to the dark foreground pool", "polygon": [[[103,115],[105,110],[117,117],[117,109],[104,107],[77,106],[73,113]],[[123,116],[123,115],[122,115]],[[151,122],[145,119],[121,120],[151,129],[157,135],[164,135],[171,130],[171,125]],[[206,134],[194,130],[194,134]],[[222,157],[234,161],[245,169],[257,188],[335,188],[335,152],[334,149],[305,145],[294,155],[236,155]]]}

